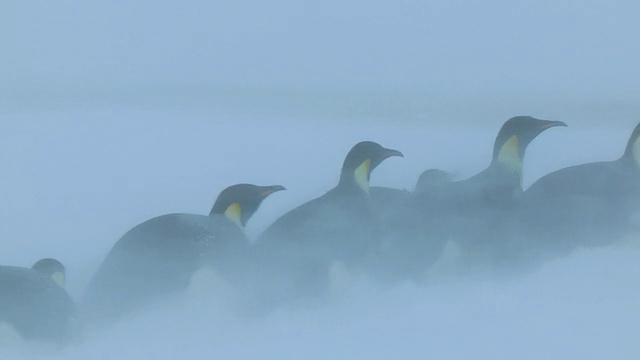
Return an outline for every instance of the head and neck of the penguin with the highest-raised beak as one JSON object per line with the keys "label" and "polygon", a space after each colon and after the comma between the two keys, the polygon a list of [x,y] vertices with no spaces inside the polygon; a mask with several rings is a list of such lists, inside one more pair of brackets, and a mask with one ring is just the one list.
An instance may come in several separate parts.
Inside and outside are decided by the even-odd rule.
{"label": "head and neck of the penguin with the highest-raised beak", "polygon": [[562,121],[540,120],[531,116],[516,116],[507,120],[493,146],[493,163],[522,173],[522,159],[527,146],[543,131],[567,126]]}

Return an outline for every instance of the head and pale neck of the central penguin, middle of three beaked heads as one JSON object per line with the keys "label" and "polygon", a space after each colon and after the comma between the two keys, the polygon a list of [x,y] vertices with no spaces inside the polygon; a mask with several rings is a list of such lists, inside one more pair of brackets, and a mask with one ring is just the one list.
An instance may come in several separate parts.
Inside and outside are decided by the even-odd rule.
{"label": "head and pale neck of the central penguin, middle of three beaked heads", "polygon": [[391,156],[404,157],[398,150],[387,149],[373,141],[362,141],[351,148],[342,164],[339,186],[357,185],[369,194],[371,172],[384,159]]}

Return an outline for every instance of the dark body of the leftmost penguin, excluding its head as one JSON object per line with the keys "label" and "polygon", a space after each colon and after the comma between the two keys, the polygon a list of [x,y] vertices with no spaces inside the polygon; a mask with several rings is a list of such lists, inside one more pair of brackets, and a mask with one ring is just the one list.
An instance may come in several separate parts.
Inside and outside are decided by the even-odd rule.
{"label": "dark body of the leftmost penguin, excluding its head", "polygon": [[10,324],[25,340],[66,343],[77,330],[76,308],[50,275],[0,266],[0,322]]}

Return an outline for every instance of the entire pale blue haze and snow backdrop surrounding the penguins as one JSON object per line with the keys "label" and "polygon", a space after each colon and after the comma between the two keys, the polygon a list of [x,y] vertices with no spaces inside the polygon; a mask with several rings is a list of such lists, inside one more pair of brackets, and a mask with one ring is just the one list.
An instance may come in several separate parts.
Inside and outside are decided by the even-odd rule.
{"label": "entire pale blue haze and snow backdrop surrounding the penguins", "polygon": [[[151,217],[208,214],[239,182],[282,184],[251,219],[338,180],[374,140],[463,179],[514,115],[565,121],[528,148],[524,186],[621,155],[640,119],[640,5],[628,2],[9,1],[0,5],[0,264],[65,263],[78,299],[115,241]],[[505,279],[380,289],[348,279],[327,304],[247,319],[232,284],[188,294],[57,348],[0,328],[3,359],[632,359],[635,236]]]}

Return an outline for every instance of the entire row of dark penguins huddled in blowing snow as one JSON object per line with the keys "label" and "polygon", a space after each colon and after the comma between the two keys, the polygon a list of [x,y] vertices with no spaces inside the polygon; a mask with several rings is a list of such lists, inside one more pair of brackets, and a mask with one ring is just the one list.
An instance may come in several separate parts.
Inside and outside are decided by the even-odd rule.
{"label": "entire row of dark penguins huddled in blowing snow", "polygon": [[419,281],[446,246],[457,249],[459,271],[474,272],[615,242],[632,231],[640,204],[640,124],[618,160],[561,169],[523,189],[528,145],[565,126],[511,118],[485,170],[454,180],[429,169],[413,190],[370,187],[374,169],[403,154],[359,142],[347,152],[335,187],[282,215],[255,242],[245,236],[247,222],[285,188],[230,186],[209,215],[161,215],[127,231],[91,278],[78,310],[58,261],[0,266],[0,322],[25,339],[63,342],[81,323],[112,323],[179,298],[205,268],[241,288],[247,305],[269,311],[323,299],[341,271],[386,285]]}

